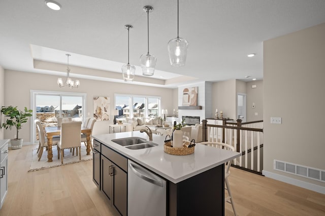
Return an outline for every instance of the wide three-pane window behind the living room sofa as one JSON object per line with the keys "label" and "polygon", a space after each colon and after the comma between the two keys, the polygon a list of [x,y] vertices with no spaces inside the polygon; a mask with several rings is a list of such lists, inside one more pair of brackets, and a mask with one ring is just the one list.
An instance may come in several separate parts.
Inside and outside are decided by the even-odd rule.
{"label": "wide three-pane window behind the living room sofa", "polygon": [[160,97],[115,94],[115,109],[119,111],[119,118],[156,117],[159,116]]}

